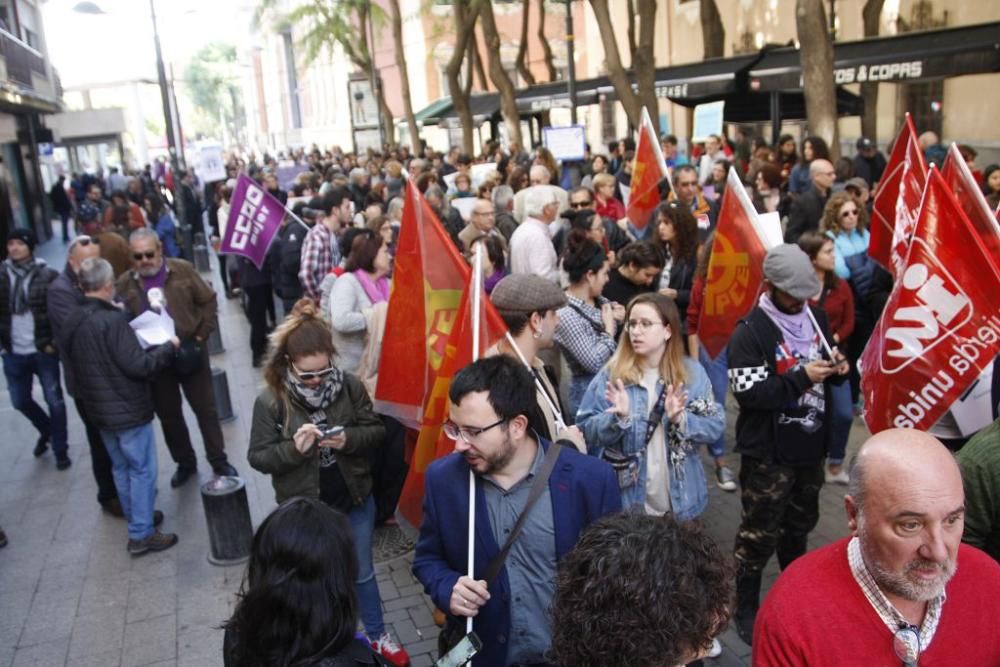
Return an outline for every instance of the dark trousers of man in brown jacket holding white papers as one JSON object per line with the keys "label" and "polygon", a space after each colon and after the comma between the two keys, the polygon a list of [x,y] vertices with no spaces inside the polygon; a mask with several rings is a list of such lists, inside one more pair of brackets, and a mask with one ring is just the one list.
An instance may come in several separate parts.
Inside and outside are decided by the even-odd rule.
{"label": "dark trousers of man in brown jacket holding white papers", "polygon": [[188,405],[198,419],[198,429],[205,443],[205,456],[213,466],[226,462],[226,445],[215,409],[215,391],[212,387],[212,369],[208,349],[202,349],[201,368],[191,375],[179,377],[173,368],[161,371],[153,380],[153,409],[163,428],[163,439],[174,463],[183,468],[195,468],[198,457],[191,446],[191,434],[184,421],[184,404],[181,389]]}

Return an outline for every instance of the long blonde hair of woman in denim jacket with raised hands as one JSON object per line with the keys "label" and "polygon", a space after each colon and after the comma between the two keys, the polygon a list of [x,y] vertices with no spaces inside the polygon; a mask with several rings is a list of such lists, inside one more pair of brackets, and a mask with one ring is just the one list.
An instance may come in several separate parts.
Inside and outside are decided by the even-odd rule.
{"label": "long blonde hair of woman in denim jacket with raised hands", "polygon": [[[670,297],[655,292],[640,294],[629,301],[625,311],[626,322],[628,322],[632,310],[642,304],[652,307],[660,314],[660,322],[670,327],[670,340],[667,341],[667,347],[660,359],[660,379],[665,384],[673,384],[674,386],[687,382],[687,369],[684,367],[684,341],[681,340],[684,336],[677,304]],[[632,340],[626,331],[618,342],[618,349],[608,361],[608,379],[611,381],[621,380],[625,384],[639,384],[642,380],[642,371],[639,355],[632,347]]]}

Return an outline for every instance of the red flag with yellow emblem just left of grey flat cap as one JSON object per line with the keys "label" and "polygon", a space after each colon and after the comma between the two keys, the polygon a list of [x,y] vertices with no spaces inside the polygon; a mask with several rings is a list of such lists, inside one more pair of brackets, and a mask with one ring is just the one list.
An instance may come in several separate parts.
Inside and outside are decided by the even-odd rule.
{"label": "red flag with yellow emblem just left of grey flat cap", "polygon": [[736,170],[731,168],[727,178],[698,320],[698,340],[713,359],[756,303],[764,255],[781,243],[780,227],[768,227],[760,219]]}

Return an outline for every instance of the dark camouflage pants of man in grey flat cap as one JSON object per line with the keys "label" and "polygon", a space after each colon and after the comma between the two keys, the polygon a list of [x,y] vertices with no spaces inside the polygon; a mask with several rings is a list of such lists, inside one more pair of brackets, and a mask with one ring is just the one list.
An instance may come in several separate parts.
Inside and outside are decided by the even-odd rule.
{"label": "dark camouflage pants of man in grey flat cap", "polygon": [[822,486],[822,464],[790,468],[749,456],[742,458],[743,517],[735,549],[741,574],[763,570],[775,551],[782,570],[806,552],[809,532],[819,521]]}

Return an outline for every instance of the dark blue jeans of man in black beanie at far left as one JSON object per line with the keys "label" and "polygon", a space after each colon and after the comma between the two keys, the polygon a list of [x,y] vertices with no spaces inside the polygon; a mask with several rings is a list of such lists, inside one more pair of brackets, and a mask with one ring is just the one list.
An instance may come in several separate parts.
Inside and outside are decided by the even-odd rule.
{"label": "dark blue jeans of man in black beanie at far left", "polygon": [[[59,357],[44,352],[3,355],[3,374],[14,409],[31,420],[39,435],[52,438],[52,451],[57,457],[66,456],[66,401],[59,379]],[[42,395],[49,406],[45,414],[31,397],[34,376],[42,383]]]}

